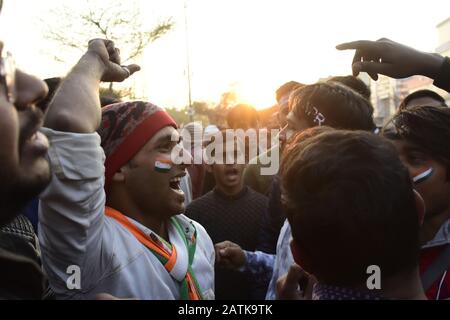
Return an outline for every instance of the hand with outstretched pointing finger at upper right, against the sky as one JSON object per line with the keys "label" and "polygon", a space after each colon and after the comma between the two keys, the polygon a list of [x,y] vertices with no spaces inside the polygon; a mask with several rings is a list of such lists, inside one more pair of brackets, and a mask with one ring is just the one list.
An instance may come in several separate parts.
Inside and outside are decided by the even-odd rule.
{"label": "hand with outstretched pointing finger at upper right, against the sky", "polygon": [[[378,74],[396,79],[424,75],[437,80],[443,76],[441,73],[444,57],[439,54],[418,51],[389,39],[348,42],[340,44],[336,48],[338,50],[356,50],[352,63],[355,76],[360,72],[367,72],[374,80],[378,79]],[[450,77],[450,75],[445,76]]]}

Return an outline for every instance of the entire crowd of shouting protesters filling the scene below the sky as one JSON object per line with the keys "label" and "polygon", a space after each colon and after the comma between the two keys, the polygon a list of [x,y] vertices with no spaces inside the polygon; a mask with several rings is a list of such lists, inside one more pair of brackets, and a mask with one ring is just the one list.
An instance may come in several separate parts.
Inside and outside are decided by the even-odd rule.
{"label": "entire crowd of shouting protesters filling the scene below the sky", "polygon": [[[274,88],[280,132],[251,158],[226,129],[262,132],[252,106],[185,125],[186,145],[163,108],[100,95],[140,70],[112,41],[46,82],[0,42],[0,298],[450,299],[450,109],[417,91],[376,128],[357,77],[450,92],[450,59],[388,39],[337,49],[355,50],[353,75]],[[231,161],[203,159],[219,140],[211,158]],[[202,162],[175,163],[180,145]]]}

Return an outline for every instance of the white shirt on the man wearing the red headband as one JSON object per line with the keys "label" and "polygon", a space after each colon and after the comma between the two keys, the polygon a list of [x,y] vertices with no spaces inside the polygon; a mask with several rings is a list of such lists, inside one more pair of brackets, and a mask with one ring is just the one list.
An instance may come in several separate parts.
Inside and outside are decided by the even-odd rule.
{"label": "white shirt on the man wearing the red headband", "polygon": [[[57,298],[93,299],[109,293],[119,298],[179,299],[179,282],[149,249],[104,213],[105,154],[100,136],[42,131],[51,143],[52,182],[41,195],[39,239],[43,267]],[[178,218],[182,224],[191,223],[184,215]],[[151,232],[132,222],[144,233]],[[204,298],[213,299],[214,246],[205,229],[192,223],[197,230],[192,269]],[[173,227],[168,232],[178,253],[175,269],[180,277],[187,270],[187,248]],[[73,289],[77,269],[80,287]]]}

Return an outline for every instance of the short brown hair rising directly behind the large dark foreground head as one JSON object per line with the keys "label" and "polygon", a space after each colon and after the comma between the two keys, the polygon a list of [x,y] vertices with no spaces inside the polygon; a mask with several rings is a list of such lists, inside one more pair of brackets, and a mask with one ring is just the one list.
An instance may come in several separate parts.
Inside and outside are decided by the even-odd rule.
{"label": "short brown hair rising directly behind the large dark foreground head", "polygon": [[337,82],[315,83],[296,89],[289,109],[310,127],[373,131],[372,104],[356,91]]}

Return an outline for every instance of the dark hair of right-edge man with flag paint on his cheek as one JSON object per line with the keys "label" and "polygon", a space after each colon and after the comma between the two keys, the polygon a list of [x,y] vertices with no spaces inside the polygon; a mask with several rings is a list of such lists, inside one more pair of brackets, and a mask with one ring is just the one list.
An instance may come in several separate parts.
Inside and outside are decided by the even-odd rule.
{"label": "dark hair of right-edge man with flag paint on his cheek", "polygon": [[393,116],[382,131],[390,140],[405,140],[447,168],[450,180],[450,109],[414,107]]}

